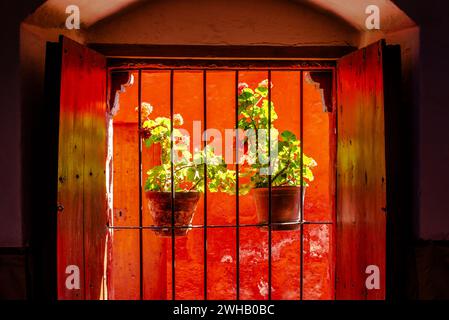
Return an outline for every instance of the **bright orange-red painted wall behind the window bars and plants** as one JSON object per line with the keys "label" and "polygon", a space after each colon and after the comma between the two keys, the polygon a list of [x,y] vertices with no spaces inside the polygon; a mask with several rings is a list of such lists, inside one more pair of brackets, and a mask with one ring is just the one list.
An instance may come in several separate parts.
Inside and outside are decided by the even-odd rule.
{"label": "bright orange-red painted wall behind the window bars and plants", "polygon": [[[240,72],[241,82],[254,87],[267,78],[266,72]],[[304,151],[318,166],[315,181],[306,191],[305,218],[331,221],[329,128],[330,116],[323,112],[319,88],[304,81]],[[137,80],[137,76],[136,76]],[[235,126],[235,75],[231,71],[207,72],[207,128],[224,133]],[[272,100],[279,119],[276,127],[299,136],[299,72],[273,71]],[[184,128],[192,132],[192,121],[203,122],[202,72],[175,72],[174,112],[184,117]],[[138,225],[138,83],[120,96],[120,111],[114,118],[114,224]],[[154,116],[169,116],[169,72],[142,75],[142,100],[154,106]],[[223,142],[224,148],[224,142]],[[156,164],[153,149],[144,149],[144,173]],[[143,175],[145,179],[145,175]],[[235,224],[235,197],[208,193],[208,225]],[[257,223],[251,195],[240,197],[240,223]],[[203,224],[204,198],[201,197],[194,224]],[[144,198],[144,225],[152,221]],[[171,298],[171,239],[143,232],[143,281],[145,299]],[[112,299],[139,298],[139,231],[115,230],[109,265],[109,294]],[[236,230],[211,228],[207,235],[208,299],[236,297]],[[299,299],[300,233],[273,232],[272,297]],[[203,230],[193,229],[176,239],[176,298],[203,299]],[[332,299],[332,226],[306,225],[304,228],[304,299]],[[240,228],[240,298],[268,297],[268,232],[257,227]]]}

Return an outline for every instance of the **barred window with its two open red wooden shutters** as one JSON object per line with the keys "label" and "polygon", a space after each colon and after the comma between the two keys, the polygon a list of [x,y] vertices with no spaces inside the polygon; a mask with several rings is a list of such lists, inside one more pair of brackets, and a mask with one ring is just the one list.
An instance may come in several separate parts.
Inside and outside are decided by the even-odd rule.
{"label": "barred window with its two open red wooden shutters", "polygon": [[[395,258],[394,250],[386,246],[393,243],[387,238],[387,222],[393,225],[392,215],[386,214],[387,181],[392,173],[387,175],[386,170],[384,124],[384,107],[388,104],[391,108],[393,101],[391,92],[384,90],[384,86],[393,88],[384,68],[384,60],[389,63],[393,58],[389,49],[378,42],[353,52],[337,61],[335,72],[330,62],[289,59],[127,60],[125,66],[120,60],[110,60],[109,91],[122,92],[121,103],[114,105],[115,95],[106,96],[105,56],[61,38],[54,46],[61,59],[54,61],[60,72],[54,75],[51,100],[59,102],[58,214],[57,228],[48,228],[48,239],[52,235],[57,239],[58,298],[234,299],[238,294],[240,299],[385,299],[387,284],[391,287],[385,272],[387,253],[391,260]],[[132,86],[129,73],[134,75]],[[126,79],[114,80],[117,78]],[[338,85],[333,85],[332,79]],[[239,87],[245,86],[239,83],[246,82],[254,89],[264,80],[268,80],[266,89],[271,88],[270,83],[274,85],[270,90],[261,88],[259,94],[264,91],[268,95],[264,97],[268,101],[262,102],[268,106],[264,114],[272,114],[269,108],[276,110],[277,118],[265,120],[274,120],[281,132],[282,140],[275,139],[278,145],[284,138],[299,139],[304,148],[300,158],[305,161],[307,155],[318,163],[313,168],[316,179],[306,188],[304,210],[292,210],[302,216],[289,217],[288,223],[278,223],[273,215],[271,223],[263,220],[266,214],[258,216],[257,212],[267,210],[258,210],[257,203],[271,207],[272,213],[280,207],[273,197],[273,187],[278,187],[279,181],[275,176],[271,182],[259,176],[256,182],[261,184],[255,185],[260,188],[253,191],[266,197],[271,183],[271,201],[257,202],[251,194],[237,197],[236,192],[234,196],[207,192],[191,210],[195,212],[192,225],[190,221],[187,226],[178,225],[176,219],[174,223],[170,219],[161,224],[163,228],[156,228],[157,221],[146,206],[145,173],[160,164],[157,159],[164,150],[174,148],[171,141],[165,149],[154,143],[150,148],[142,145],[146,132],[139,127],[144,129],[145,124],[138,118],[139,114],[142,118],[143,103],[152,103],[152,115],[160,112],[169,124],[171,118],[179,122],[176,114],[180,113],[183,126],[197,120],[202,129],[220,132],[244,125],[239,123],[245,115],[237,108],[240,101],[236,98],[241,95]],[[270,107],[270,100],[274,106]],[[108,101],[112,101],[112,109]],[[283,136],[285,130],[290,133]],[[200,141],[198,150],[206,145]],[[292,150],[298,147],[288,146]],[[222,156],[215,152],[212,158]],[[171,178],[174,172],[169,166]],[[203,167],[203,173],[214,168],[209,164]],[[241,173],[244,169],[243,163],[236,166],[231,161],[224,172]],[[300,170],[300,181],[306,175]],[[290,175],[296,180],[297,176]],[[236,180],[239,191],[246,183],[240,177],[245,178]],[[262,189],[266,186],[268,191]],[[150,184],[149,190],[154,189]],[[164,210],[169,214],[165,218],[173,217],[176,198],[180,198],[172,191],[177,192],[171,188],[168,192],[169,209]],[[391,190],[388,194],[389,208],[395,208]],[[171,206],[173,200],[175,206]],[[279,231],[280,227],[300,230]],[[173,236],[187,229],[187,237]],[[167,231],[171,236],[161,237],[160,233]],[[323,289],[327,284],[331,291]]]}

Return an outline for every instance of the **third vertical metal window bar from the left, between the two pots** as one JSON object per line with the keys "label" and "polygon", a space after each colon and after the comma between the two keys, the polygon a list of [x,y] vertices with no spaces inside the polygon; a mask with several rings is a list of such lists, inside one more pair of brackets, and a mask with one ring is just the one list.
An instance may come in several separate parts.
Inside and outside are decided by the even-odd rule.
{"label": "third vertical metal window bar from the left, between the two pots", "polygon": [[203,70],[203,121],[204,121],[204,300],[207,300],[207,75]]}

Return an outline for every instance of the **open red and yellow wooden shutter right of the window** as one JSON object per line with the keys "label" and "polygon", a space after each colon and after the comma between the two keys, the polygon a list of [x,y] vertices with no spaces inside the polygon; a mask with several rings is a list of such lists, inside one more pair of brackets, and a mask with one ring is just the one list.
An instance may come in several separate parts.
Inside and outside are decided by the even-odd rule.
{"label": "open red and yellow wooden shutter right of the window", "polygon": [[[385,299],[383,42],[338,62],[337,299]],[[369,289],[379,268],[380,288]],[[372,287],[370,287],[372,288]]]}

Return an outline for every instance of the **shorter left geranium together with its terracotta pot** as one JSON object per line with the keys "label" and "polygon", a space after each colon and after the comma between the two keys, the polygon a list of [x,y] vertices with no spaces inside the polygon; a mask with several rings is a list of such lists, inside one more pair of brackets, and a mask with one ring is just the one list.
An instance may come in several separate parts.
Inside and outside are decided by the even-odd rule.
{"label": "shorter left geranium together with its terracotta pot", "polygon": [[145,182],[148,208],[158,227],[154,232],[163,237],[185,236],[205,184],[210,192],[229,193],[235,172],[227,170],[211,146],[190,152],[189,136],[179,128],[184,122],[180,114],[173,116],[172,123],[167,117],[152,119],[152,111],[150,104],[142,104],[142,139],[147,147],[159,145],[161,150],[160,164],[148,170]]}

